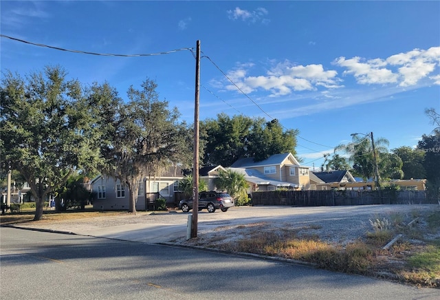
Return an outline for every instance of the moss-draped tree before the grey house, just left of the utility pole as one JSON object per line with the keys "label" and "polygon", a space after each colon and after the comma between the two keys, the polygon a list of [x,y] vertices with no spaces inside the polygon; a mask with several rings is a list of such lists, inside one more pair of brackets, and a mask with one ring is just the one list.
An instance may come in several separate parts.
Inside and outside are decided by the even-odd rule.
{"label": "moss-draped tree before the grey house, just left of the utility pole", "polygon": [[147,78],[141,87],[129,88],[128,103],[122,103],[107,87],[98,87],[94,94],[95,99],[111,104],[107,115],[98,118],[101,131],[106,133],[106,142],[101,144],[105,159],[102,173],[128,187],[131,213],[136,211],[135,200],[143,178],[159,175],[162,168],[172,164],[186,164],[190,158],[186,144],[190,130],[178,121],[177,108],[169,110],[168,102],[159,100],[155,81]]}

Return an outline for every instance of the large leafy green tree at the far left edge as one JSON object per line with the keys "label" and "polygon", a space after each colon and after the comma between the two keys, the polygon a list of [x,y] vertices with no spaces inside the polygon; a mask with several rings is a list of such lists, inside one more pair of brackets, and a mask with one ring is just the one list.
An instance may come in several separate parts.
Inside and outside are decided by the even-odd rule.
{"label": "large leafy green tree at the far left edge", "polygon": [[0,149],[2,169],[14,169],[36,198],[34,220],[41,219],[46,195],[78,169],[94,169],[98,149],[89,127],[85,90],[67,81],[61,67],[45,67],[22,78],[1,79]]}

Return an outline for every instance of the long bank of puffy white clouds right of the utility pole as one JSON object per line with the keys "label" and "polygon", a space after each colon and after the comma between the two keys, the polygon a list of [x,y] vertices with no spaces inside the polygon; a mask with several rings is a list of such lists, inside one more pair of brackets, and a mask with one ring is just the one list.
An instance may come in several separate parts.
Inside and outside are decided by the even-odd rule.
{"label": "long bank of puffy white clouds right of the utility pole", "polygon": [[[259,89],[270,92],[270,97],[286,96],[294,92],[334,90],[345,87],[336,69],[325,69],[322,64],[295,65],[285,60],[267,59],[265,74],[255,73],[254,63],[240,64],[228,72],[228,77],[246,94]],[[360,85],[388,85],[390,87],[415,88],[420,85],[440,85],[440,47],[428,50],[411,50],[388,58],[366,59],[343,56],[333,61],[342,67],[342,75],[353,76]],[[437,70],[437,74],[433,74]],[[423,83],[420,83],[422,80]],[[225,89],[237,91],[234,84],[223,79]],[[217,81],[219,87],[220,81]],[[321,94],[322,98],[333,98]]]}

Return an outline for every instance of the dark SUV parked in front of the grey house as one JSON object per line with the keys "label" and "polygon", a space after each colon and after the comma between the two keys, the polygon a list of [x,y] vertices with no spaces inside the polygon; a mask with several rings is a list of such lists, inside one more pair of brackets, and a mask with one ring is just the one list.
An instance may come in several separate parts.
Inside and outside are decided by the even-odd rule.
{"label": "dark SUV parked in front of the grey house", "polygon": [[[217,191],[199,192],[199,211],[206,208],[209,213],[214,213],[217,208],[220,208],[221,211],[225,212],[232,206],[234,206],[234,200],[228,193]],[[188,213],[192,209],[192,198],[181,200],[179,208],[184,213]]]}

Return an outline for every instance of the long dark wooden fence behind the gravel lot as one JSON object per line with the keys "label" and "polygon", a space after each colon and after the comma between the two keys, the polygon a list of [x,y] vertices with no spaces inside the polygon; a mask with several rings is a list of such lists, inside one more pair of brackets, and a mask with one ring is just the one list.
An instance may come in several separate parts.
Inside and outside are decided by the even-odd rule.
{"label": "long dark wooden fence behind the gravel lot", "polygon": [[366,204],[437,204],[425,191],[266,191],[251,195],[252,205],[341,206]]}

